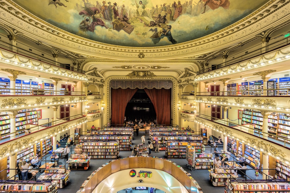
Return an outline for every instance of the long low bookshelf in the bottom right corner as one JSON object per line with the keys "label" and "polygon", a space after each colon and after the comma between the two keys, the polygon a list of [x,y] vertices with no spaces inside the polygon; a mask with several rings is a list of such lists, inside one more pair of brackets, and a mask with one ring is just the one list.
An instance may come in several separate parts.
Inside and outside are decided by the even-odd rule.
{"label": "long low bookshelf in the bottom right corner", "polygon": [[226,181],[225,192],[227,193],[244,193],[244,192],[289,192],[290,185],[286,182],[275,180],[266,181]]}

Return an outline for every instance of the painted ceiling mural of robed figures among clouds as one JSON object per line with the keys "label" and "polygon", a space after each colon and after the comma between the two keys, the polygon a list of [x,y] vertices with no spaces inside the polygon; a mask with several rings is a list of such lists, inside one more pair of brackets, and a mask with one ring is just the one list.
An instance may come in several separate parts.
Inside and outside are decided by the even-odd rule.
{"label": "painted ceiling mural of robed figures among clouds", "polygon": [[12,0],[77,36],[130,47],[166,46],[223,29],[265,0]]}

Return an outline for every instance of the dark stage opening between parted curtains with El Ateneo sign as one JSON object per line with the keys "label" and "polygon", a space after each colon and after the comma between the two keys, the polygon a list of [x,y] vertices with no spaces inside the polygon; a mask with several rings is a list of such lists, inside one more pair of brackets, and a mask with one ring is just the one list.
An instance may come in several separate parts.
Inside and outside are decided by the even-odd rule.
{"label": "dark stage opening between parted curtains with El Ateneo sign", "polygon": [[131,100],[128,102],[125,110],[126,121],[138,121],[142,119],[149,123],[150,121],[156,120],[156,112],[154,106],[144,91],[144,89],[138,89],[133,95]]}

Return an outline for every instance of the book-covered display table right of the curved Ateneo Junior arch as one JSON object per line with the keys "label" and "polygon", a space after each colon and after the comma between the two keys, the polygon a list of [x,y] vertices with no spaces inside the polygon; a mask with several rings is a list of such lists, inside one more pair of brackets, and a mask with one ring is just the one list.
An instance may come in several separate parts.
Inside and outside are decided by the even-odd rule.
{"label": "book-covered display table right of the curved Ateneo Junior arch", "polygon": [[228,179],[238,178],[238,174],[232,169],[214,169],[209,173],[213,186],[226,186]]}

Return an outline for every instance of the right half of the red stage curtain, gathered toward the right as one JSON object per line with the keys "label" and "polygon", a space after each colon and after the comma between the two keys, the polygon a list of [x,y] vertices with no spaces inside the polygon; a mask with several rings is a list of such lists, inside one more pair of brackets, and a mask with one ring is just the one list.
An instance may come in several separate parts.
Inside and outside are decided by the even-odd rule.
{"label": "right half of the red stage curtain, gathered toward the right", "polygon": [[146,89],[156,111],[157,124],[171,124],[171,89]]}

